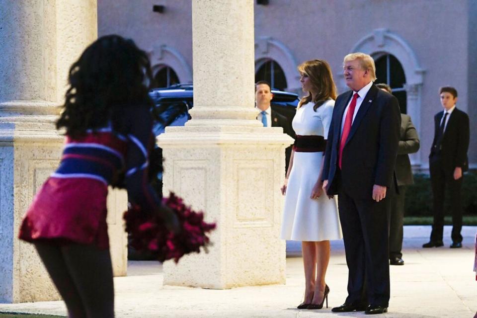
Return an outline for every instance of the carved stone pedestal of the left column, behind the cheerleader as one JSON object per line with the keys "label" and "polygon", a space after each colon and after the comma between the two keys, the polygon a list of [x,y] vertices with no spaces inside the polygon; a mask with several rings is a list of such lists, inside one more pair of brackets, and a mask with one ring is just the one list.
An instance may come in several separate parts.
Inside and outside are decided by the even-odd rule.
{"label": "carved stone pedestal of the left column, behind the cheerleader", "polygon": [[[37,122],[48,122],[38,116]],[[25,211],[46,178],[58,166],[63,137],[53,124],[0,123],[0,302],[59,300],[34,246],[17,239]],[[108,197],[108,227],[113,270],[126,275],[127,239],[122,212],[125,191]],[[87,213],[87,211],[85,211]]]}

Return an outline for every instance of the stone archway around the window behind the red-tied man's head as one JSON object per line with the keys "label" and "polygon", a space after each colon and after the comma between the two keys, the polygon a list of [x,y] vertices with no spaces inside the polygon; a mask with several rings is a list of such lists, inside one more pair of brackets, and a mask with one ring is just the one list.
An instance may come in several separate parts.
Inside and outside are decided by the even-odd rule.
{"label": "stone archway around the window behind the red-tied man's head", "polygon": [[[420,67],[419,61],[412,48],[399,35],[388,29],[375,29],[372,33],[360,39],[350,52],[363,52],[373,58],[383,54],[392,54],[401,63],[406,76],[404,88],[407,93],[407,114],[420,134],[421,126],[421,89],[425,70]],[[344,79],[340,81],[345,87]],[[420,152],[409,156],[414,166],[420,166]]]}

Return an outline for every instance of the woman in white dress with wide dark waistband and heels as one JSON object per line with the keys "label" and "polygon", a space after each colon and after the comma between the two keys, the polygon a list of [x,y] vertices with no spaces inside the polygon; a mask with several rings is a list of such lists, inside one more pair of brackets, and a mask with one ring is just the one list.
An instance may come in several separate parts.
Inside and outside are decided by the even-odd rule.
{"label": "woman in white dress with wide dark waistband and heels", "polygon": [[325,274],[329,240],[341,239],[338,207],[322,190],[323,152],[333,113],[336,86],[326,61],[311,60],[298,67],[303,91],[293,118],[297,134],[282,194],[285,195],[281,238],[301,240],[305,269],[305,299],[298,309],[320,309],[329,288]]}

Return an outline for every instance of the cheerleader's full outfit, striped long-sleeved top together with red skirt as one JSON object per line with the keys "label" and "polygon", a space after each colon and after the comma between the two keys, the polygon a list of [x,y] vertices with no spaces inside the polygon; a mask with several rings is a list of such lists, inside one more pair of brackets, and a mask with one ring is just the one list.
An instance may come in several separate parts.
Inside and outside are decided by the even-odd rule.
{"label": "cheerleader's full outfit, striped long-sleeved top together with red skirt", "polygon": [[149,150],[154,145],[149,107],[122,105],[112,116],[108,127],[66,137],[60,165],[36,193],[20,239],[107,248],[108,185],[125,188],[128,201],[145,215],[160,212],[160,198],[149,183]]}

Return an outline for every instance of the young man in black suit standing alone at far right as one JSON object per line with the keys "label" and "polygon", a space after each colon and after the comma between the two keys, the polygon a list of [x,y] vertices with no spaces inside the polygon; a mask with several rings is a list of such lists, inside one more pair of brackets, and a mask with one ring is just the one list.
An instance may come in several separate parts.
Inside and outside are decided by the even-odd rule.
{"label": "young man in black suit standing alone at far right", "polygon": [[469,116],[456,108],[457,90],[454,87],[440,88],[444,110],[434,116],[434,140],[429,155],[432,195],[434,197],[434,223],[430,241],[422,247],[443,246],[444,195],[449,189],[452,209],[451,248],[462,247],[461,187],[463,172],[469,168]]}

